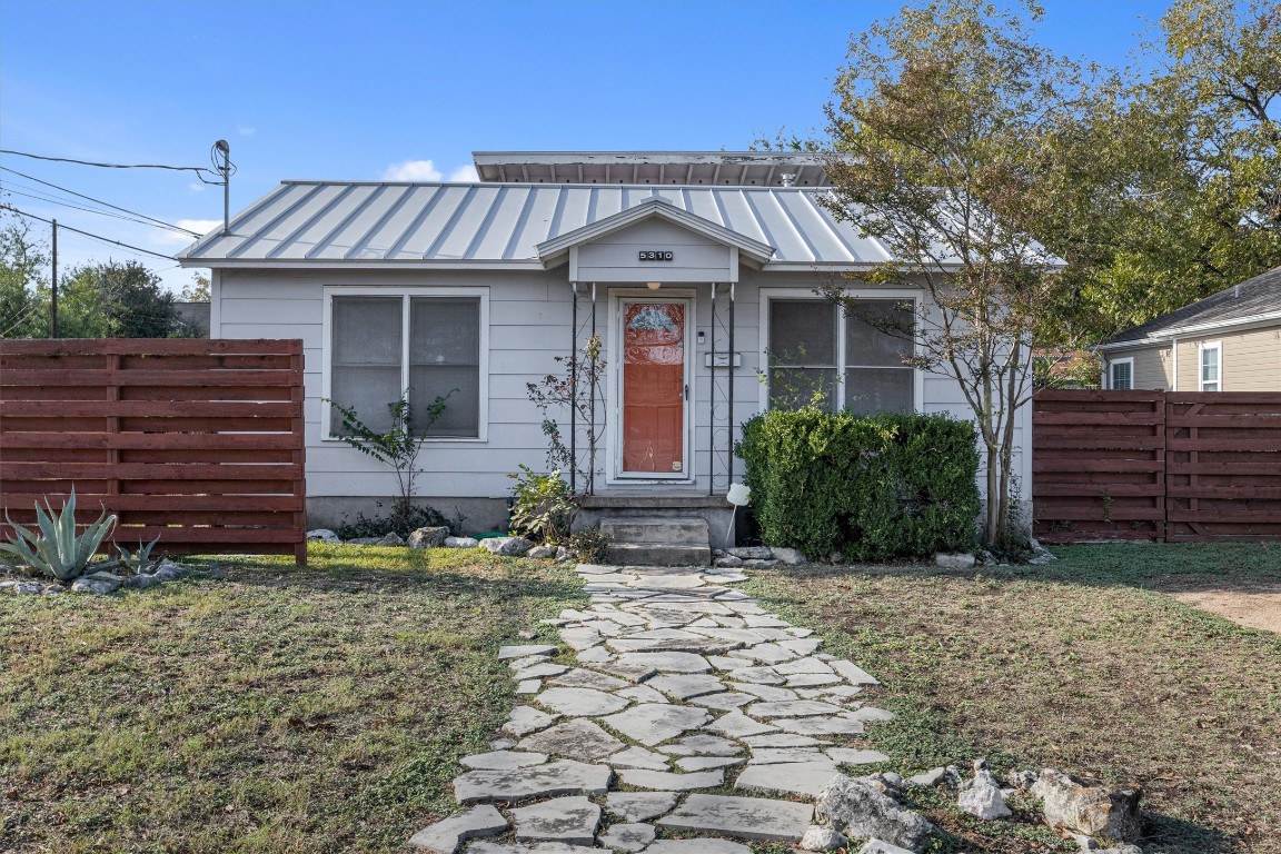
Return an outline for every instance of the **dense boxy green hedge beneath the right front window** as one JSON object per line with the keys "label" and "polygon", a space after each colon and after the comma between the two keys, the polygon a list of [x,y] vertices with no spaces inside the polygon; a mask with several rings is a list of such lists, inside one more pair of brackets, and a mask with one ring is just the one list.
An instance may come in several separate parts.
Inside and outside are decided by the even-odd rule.
{"label": "dense boxy green hedge beneath the right front window", "polygon": [[979,451],[968,421],[772,410],[743,425],[735,453],[770,545],[845,561],[975,547]]}

